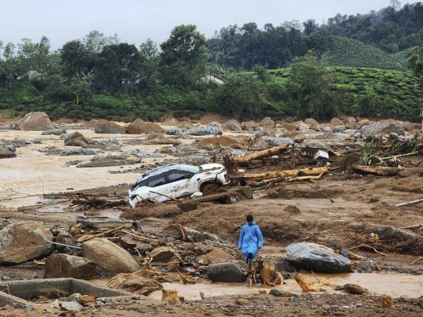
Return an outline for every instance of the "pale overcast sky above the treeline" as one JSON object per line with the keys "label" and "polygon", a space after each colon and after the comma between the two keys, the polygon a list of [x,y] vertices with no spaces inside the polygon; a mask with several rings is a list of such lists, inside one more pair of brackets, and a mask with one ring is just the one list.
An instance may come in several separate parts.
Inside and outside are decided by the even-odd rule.
{"label": "pale overcast sky above the treeline", "polygon": [[[43,35],[53,49],[92,30],[114,33],[137,47],[147,38],[160,44],[176,25],[196,24],[210,38],[228,25],[256,22],[280,25],[314,18],[321,24],[338,12],[365,14],[389,0],[0,0],[0,40],[38,42]],[[416,1],[410,1],[412,3]],[[405,3],[405,2],[404,2]],[[404,4],[403,3],[403,4]]]}

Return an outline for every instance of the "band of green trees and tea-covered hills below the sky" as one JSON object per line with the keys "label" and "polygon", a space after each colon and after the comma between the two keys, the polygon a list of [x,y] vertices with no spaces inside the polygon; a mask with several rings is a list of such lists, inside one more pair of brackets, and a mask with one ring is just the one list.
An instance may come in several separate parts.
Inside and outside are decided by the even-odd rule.
{"label": "band of green trees and tea-covered hills below the sky", "polygon": [[[47,37],[0,41],[0,110],[44,111],[52,119],[239,120],[346,114],[412,119],[423,79],[423,5],[368,14],[230,25],[211,39],[179,25],[138,47],[92,31],[52,52]],[[410,63],[409,63],[410,62]],[[412,75],[412,73],[414,75]],[[222,79],[219,84],[213,76]]]}

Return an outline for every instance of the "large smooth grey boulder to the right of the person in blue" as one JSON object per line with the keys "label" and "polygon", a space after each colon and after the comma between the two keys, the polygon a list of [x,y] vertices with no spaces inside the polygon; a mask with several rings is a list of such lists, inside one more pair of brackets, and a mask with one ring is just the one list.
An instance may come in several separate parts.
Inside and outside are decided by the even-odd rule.
{"label": "large smooth grey boulder to the right of the person in blue", "polygon": [[351,261],[347,257],[317,243],[300,242],[288,245],[286,259],[315,272],[344,273],[351,269]]}

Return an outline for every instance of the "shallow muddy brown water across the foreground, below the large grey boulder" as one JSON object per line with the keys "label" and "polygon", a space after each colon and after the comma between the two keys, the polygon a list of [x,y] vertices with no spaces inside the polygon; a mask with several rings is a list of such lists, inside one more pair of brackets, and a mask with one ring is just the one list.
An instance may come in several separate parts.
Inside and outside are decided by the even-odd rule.
{"label": "shallow muddy brown water across the foreground, below the large grey boulder", "polygon": [[[315,282],[316,278],[312,274],[305,274],[310,282]],[[393,298],[408,297],[417,298],[423,295],[423,276],[409,274],[389,274],[389,273],[349,273],[349,274],[317,274],[318,279],[328,281],[329,286],[324,288],[325,293],[341,294],[342,291],[335,291],[334,288],[344,284],[358,284],[366,288],[374,295],[389,295]],[[280,288],[286,292],[301,294],[302,290],[298,284],[289,279]],[[163,287],[168,290],[176,290],[179,296],[186,300],[200,300],[200,291],[205,297],[225,296],[225,295],[248,295],[258,294],[260,290],[269,293],[271,287],[263,287],[261,284],[249,288],[245,283],[214,283],[214,284],[175,284],[163,283]],[[155,291],[149,295],[153,299],[160,300],[161,291]]]}

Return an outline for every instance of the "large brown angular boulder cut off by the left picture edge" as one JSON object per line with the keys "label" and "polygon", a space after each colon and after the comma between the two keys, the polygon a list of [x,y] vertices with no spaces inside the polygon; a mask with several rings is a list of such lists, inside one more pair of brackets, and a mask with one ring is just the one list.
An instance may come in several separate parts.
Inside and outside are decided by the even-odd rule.
{"label": "large brown angular boulder cut off by the left picture edge", "polygon": [[33,221],[7,225],[0,230],[0,265],[42,258],[53,251],[50,230]]}

